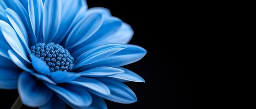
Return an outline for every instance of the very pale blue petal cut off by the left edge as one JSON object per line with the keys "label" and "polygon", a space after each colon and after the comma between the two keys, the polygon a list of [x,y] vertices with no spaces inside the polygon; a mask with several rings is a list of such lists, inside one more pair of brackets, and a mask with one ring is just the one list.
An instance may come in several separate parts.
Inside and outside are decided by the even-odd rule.
{"label": "very pale blue petal cut off by the left edge", "polygon": [[0,30],[2,32],[2,35],[5,37],[7,43],[11,46],[11,48],[17,54],[19,54],[22,57],[22,59],[29,62],[29,60],[27,59],[27,55],[24,49],[22,48],[22,44],[16,35],[15,30],[13,30],[9,24],[2,20],[0,20]]}

